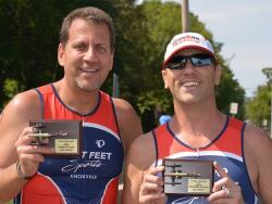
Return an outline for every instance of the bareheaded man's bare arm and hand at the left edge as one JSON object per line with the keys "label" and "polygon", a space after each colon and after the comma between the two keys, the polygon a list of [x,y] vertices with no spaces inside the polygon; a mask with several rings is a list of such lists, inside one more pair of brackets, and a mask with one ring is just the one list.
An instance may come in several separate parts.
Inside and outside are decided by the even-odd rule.
{"label": "bareheaded man's bare arm and hand at the left edge", "polygon": [[[38,168],[39,162],[33,161],[42,161],[42,155],[37,154],[40,150],[32,150],[35,146],[29,145],[30,139],[27,133],[30,128],[28,131],[24,130],[28,126],[29,119],[35,118],[40,118],[39,101],[35,91],[17,94],[2,112],[0,119],[0,202],[16,196],[27,182],[23,175],[30,176]],[[20,166],[16,166],[18,164]],[[29,171],[30,168],[33,168],[32,171]]]}

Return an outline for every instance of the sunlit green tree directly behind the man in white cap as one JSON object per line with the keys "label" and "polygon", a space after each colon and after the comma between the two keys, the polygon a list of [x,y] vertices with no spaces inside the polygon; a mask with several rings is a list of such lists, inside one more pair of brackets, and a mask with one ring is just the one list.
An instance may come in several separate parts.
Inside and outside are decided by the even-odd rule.
{"label": "sunlit green tree directly behind the man in white cap", "polygon": [[[166,44],[171,38],[182,31],[181,4],[175,2],[164,2],[159,0],[145,1],[139,5],[145,18],[143,20],[144,30],[146,30],[146,43],[141,48],[141,64],[144,74],[144,84],[147,89],[137,95],[137,107],[141,113],[141,120],[152,120],[150,112],[156,110],[159,104],[163,111],[173,113],[172,98],[168,91],[163,89],[163,81],[160,68],[163,62],[163,54]],[[230,69],[226,61],[220,55],[222,43],[213,40],[212,34],[206,28],[205,24],[198,20],[198,16],[189,13],[190,30],[202,34],[213,44],[218,61],[223,68],[221,85],[217,88],[217,103],[219,109],[228,114],[231,102],[239,103],[238,117],[244,116],[244,95],[245,91],[234,79],[234,74]],[[149,118],[147,119],[147,115]],[[151,124],[154,126],[156,123]],[[145,124],[144,124],[145,126]],[[149,128],[149,127],[148,127]]]}

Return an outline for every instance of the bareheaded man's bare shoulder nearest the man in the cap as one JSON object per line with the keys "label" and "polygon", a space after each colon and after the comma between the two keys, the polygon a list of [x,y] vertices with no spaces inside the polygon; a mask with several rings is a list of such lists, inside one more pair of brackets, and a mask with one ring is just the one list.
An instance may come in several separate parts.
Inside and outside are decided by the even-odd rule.
{"label": "bareheaded man's bare shoulder nearest the man in the cap", "polygon": [[143,133],[140,120],[127,101],[113,99],[113,103],[124,150],[127,152],[132,141]]}

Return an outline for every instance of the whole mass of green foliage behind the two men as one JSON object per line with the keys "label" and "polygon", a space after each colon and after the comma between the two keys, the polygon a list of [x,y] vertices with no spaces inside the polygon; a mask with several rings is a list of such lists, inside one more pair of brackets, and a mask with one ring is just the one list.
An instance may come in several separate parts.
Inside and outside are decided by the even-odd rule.
{"label": "whole mass of green foliage behind the two men", "polygon": [[[139,113],[145,131],[157,125],[154,110],[172,113],[172,97],[163,89],[160,73],[168,41],[182,30],[181,5],[159,0],[135,5],[134,0],[0,0],[0,107],[13,95],[62,77],[57,48],[62,18],[73,9],[94,5],[108,12],[116,31],[113,72],[119,74],[121,98]],[[190,30],[201,33],[220,53],[222,43],[189,14]],[[221,64],[225,64],[218,54]],[[230,102],[243,104],[244,91],[227,66],[218,103],[227,112]],[[9,79],[9,80],[5,80]],[[112,77],[102,87],[112,92]],[[243,115],[243,113],[240,113]]]}

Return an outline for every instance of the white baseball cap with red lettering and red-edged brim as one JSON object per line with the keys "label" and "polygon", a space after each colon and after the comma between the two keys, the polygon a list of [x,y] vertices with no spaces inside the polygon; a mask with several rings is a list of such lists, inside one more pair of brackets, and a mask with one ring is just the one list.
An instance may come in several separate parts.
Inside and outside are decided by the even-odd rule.
{"label": "white baseball cap with red lettering and red-edged brim", "polygon": [[197,33],[183,33],[173,37],[169,42],[166,52],[164,54],[163,67],[165,67],[169,60],[178,51],[188,48],[195,48],[206,51],[215,58],[211,42],[207,40],[202,35]]}

